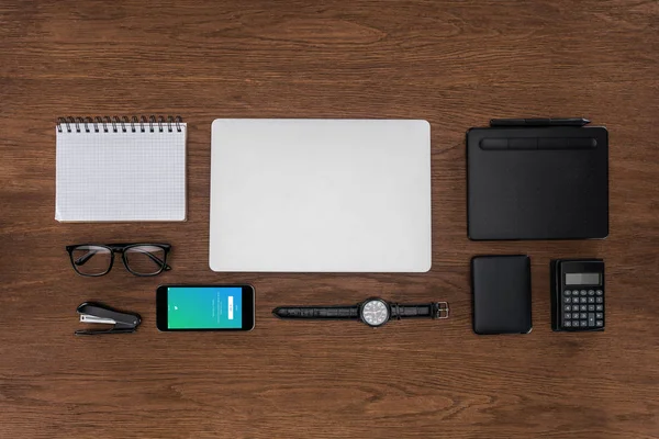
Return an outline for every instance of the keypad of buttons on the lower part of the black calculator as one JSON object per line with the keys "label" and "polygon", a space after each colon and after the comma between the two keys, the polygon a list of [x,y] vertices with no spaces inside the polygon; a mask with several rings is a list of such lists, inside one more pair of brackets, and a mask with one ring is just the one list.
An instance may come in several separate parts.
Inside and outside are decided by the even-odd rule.
{"label": "keypad of buttons on the lower part of the black calculator", "polygon": [[563,290],[562,329],[588,330],[604,328],[604,291],[601,288]]}

